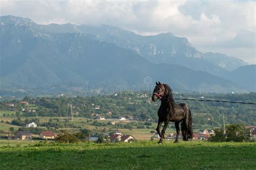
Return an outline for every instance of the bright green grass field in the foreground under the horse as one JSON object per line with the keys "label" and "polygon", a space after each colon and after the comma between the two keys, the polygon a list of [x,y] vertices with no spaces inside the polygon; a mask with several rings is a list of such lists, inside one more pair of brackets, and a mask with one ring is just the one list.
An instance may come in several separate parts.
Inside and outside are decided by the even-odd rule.
{"label": "bright green grass field in the foreground under the horse", "polygon": [[139,141],[1,147],[2,169],[255,169],[256,143]]}

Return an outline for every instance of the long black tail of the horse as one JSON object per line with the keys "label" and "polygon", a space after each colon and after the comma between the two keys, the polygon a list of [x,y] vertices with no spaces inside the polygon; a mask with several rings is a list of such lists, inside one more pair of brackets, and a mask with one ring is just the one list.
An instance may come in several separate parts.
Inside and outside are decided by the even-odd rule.
{"label": "long black tail of the horse", "polygon": [[192,115],[191,110],[188,105],[185,106],[185,117],[181,123],[181,133],[183,140],[192,140],[193,130],[192,130]]}

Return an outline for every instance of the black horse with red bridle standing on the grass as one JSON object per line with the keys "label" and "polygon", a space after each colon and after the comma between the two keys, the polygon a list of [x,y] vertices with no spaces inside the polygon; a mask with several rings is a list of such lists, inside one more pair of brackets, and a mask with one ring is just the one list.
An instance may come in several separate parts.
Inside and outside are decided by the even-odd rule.
{"label": "black horse with red bridle standing on the grass", "polygon": [[[169,122],[175,122],[176,128],[176,140],[174,143],[178,143],[179,137],[179,123],[181,122],[181,134],[183,136],[183,140],[192,140],[193,138],[193,130],[192,130],[192,116],[191,110],[186,103],[179,103],[173,100],[172,97],[172,89],[167,86],[167,84],[161,84],[160,82],[156,82],[156,87],[154,88],[152,101],[156,102],[157,100],[161,101],[160,108],[158,109],[158,125],[157,132],[160,136],[160,140],[158,143],[163,143],[163,138],[165,137],[165,130],[168,126]],[[164,128],[160,132],[161,124],[164,122]]]}

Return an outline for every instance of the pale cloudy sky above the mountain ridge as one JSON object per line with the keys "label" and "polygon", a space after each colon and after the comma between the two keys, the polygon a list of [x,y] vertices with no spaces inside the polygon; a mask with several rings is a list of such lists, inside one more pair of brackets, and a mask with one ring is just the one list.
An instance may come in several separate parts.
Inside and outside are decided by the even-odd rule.
{"label": "pale cloudy sky above the mountain ridge", "polygon": [[0,16],[38,24],[113,25],[142,35],[171,32],[201,52],[256,64],[255,1],[0,1]]}

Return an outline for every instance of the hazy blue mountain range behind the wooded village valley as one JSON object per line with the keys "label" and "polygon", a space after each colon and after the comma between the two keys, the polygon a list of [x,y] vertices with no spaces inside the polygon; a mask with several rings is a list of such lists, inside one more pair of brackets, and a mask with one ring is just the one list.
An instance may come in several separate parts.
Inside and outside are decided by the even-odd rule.
{"label": "hazy blue mountain range behind the wooded village valley", "polygon": [[256,91],[255,65],[199,52],[171,33],[140,36],[108,25],[39,25],[2,16],[0,35],[4,90],[65,90],[86,82],[131,87],[150,76],[181,91]]}

